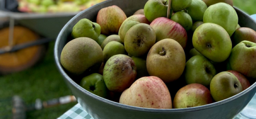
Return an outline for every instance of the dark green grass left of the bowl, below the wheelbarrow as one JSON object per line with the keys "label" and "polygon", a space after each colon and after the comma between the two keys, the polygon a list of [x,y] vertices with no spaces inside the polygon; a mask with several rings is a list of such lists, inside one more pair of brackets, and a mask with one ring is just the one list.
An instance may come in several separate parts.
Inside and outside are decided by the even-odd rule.
{"label": "dark green grass left of the bowl, below the wheelbarrow", "polygon": [[[0,99],[18,95],[22,97],[24,102],[31,104],[36,99],[45,101],[60,96],[72,95],[55,65],[53,46],[54,42],[50,42],[48,52],[43,61],[34,67],[19,73],[1,76]],[[27,118],[57,118],[75,104],[69,103],[40,111],[28,112]]]}

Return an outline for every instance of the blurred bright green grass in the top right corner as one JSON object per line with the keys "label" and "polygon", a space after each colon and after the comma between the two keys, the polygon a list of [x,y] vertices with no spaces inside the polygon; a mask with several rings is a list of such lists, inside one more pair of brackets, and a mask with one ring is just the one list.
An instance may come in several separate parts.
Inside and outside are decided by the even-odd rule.
{"label": "blurred bright green grass in the top right corner", "polygon": [[255,0],[233,0],[234,6],[245,11],[249,15],[256,14]]}

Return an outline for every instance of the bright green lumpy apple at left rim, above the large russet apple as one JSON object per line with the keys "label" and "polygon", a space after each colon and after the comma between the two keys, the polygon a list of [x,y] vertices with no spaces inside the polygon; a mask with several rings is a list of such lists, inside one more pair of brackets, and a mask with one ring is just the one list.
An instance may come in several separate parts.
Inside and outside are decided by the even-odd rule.
{"label": "bright green lumpy apple at left rim, above the large russet apple", "polygon": [[93,23],[89,19],[80,19],[72,29],[72,36],[76,39],[78,37],[89,37],[90,39],[97,40],[101,34],[101,26]]}

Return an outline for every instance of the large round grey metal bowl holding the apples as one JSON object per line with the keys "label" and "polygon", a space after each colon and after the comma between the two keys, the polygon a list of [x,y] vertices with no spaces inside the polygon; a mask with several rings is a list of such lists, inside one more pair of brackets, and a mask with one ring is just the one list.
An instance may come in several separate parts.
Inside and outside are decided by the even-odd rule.
{"label": "large round grey metal bowl holding the apples", "polygon": [[[186,109],[149,109],[131,107],[115,103],[114,101],[106,100],[96,96],[80,87],[71,77],[65,72],[60,64],[60,54],[64,45],[70,39],[70,34],[73,26],[82,18],[87,18],[96,22],[97,12],[104,7],[117,5],[126,13],[127,16],[140,8],[143,8],[147,0],[109,0],[102,2],[96,6],[88,8],[73,17],[64,26],[59,33],[55,43],[54,55],[57,68],[63,75],[65,82],[75,95],[79,104],[85,109],[94,119],[125,119],[125,118],[195,118],[195,119],[217,119],[217,118],[233,118],[238,114],[251,100],[256,92],[256,83],[238,95],[230,97],[216,103],[203,105],[200,107]],[[256,23],[249,15],[236,8],[239,24],[241,27],[250,27],[256,30]],[[172,95],[174,96],[174,95]]]}

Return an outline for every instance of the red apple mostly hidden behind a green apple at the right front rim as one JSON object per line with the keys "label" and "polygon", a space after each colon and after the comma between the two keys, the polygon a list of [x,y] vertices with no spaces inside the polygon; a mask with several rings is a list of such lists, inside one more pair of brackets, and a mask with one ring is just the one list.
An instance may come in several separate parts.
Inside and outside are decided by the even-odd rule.
{"label": "red apple mostly hidden behind a green apple at the right front rim", "polygon": [[246,90],[247,88],[249,88],[251,86],[249,80],[244,76],[242,75],[241,73],[239,73],[238,71],[235,71],[235,70],[228,70],[228,72],[234,74],[237,79],[240,81],[240,83],[242,84],[242,89],[243,90]]}

